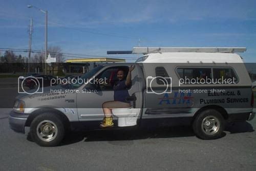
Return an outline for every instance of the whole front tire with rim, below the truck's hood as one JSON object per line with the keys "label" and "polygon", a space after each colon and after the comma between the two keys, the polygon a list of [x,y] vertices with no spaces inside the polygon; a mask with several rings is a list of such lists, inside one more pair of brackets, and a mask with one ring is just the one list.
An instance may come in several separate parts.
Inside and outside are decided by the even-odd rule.
{"label": "whole front tire with rim, below the truck's hood", "polygon": [[40,146],[57,146],[65,136],[65,126],[55,113],[43,113],[33,119],[30,135]]}

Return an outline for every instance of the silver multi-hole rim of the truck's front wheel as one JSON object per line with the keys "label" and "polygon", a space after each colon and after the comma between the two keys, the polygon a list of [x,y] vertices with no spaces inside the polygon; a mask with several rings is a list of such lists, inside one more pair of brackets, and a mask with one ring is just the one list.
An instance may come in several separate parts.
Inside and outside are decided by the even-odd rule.
{"label": "silver multi-hole rim of the truck's front wheel", "polygon": [[57,126],[51,120],[42,120],[36,128],[37,136],[45,142],[52,141],[58,134]]}

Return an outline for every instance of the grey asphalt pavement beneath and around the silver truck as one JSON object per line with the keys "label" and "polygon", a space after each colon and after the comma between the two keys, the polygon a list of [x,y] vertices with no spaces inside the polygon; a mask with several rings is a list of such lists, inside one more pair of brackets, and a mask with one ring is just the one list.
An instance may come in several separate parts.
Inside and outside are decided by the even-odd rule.
{"label": "grey asphalt pavement beneath and around the silver truck", "polygon": [[[0,92],[7,105],[17,89]],[[104,130],[72,133],[44,148],[12,131],[11,109],[0,110],[0,170],[256,170],[256,119],[228,125],[216,140],[201,140],[190,127]]]}

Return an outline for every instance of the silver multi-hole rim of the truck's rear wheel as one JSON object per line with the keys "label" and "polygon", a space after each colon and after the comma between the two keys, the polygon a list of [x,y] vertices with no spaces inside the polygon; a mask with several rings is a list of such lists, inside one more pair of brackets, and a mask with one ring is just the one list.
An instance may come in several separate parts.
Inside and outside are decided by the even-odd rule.
{"label": "silver multi-hole rim of the truck's rear wheel", "polygon": [[220,120],[215,116],[206,116],[202,121],[202,130],[207,135],[214,135],[220,129]]}

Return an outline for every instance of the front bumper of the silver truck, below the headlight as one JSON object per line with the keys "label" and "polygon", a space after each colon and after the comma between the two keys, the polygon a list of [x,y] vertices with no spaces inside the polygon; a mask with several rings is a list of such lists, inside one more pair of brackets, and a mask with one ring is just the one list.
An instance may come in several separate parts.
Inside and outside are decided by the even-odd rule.
{"label": "front bumper of the silver truck, below the headlight", "polygon": [[16,132],[25,133],[25,124],[29,117],[29,114],[17,113],[13,110],[9,115],[10,128]]}

